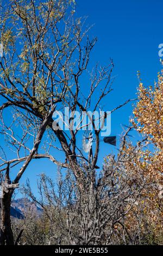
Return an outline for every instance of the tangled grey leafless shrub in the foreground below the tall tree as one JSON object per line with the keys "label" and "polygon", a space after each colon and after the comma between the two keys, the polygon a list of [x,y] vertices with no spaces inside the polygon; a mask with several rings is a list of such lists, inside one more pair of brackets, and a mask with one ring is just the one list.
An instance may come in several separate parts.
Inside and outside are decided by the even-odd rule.
{"label": "tangled grey leafless shrub in the foreground below the tall tree", "polygon": [[[130,155],[125,154],[123,148],[128,144],[126,141],[128,131],[123,136],[119,156],[110,155],[105,159],[99,175],[95,176],[91,169],[80,166],[85,173],[82,188],[76,182],[72,170],[67,170],[65,178],[62,178],[59,171],[56,184],[42,174],[37,183],[39,197],[34,196],[27,181],[23,192],[43,209],[42,223],[46,222],[46,230],[48,229],[47,234],[44,233],[43,244],[134,244],[136,233],[130,234],[126,219],[142,199],[141,194],[145,188],[147,189],[147,184],[143,175],[135,182],[133,172],[131,170],[128,172],[128,161],[133,161],[140,149],[139,145]],[[141,147],[143,146],[141,143]],[[144,223],[140,216],[139,221],[141,225]],[[27,241],[33,244],[35,239],[37,240],[37,234],[40,234],[40,226],[37,225],[37,234],[33,240],[28,237],[32,227],[30,225],[26,227],[25,230],[29,231],[25,234]],[[42,237],[42,234],[40,236]]]}

